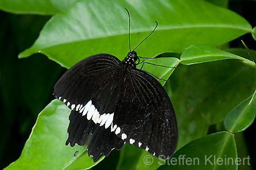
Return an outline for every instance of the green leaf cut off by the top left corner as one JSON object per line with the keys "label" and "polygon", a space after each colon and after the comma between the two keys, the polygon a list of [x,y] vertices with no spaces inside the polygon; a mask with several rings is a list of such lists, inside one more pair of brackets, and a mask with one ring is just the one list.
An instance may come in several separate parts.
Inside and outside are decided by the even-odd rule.
{"label": "green leaf cut off by the top left corner", "polygon": [[76,0],[1,0],[0,9],[14,14],[53,15],[67,9]]}

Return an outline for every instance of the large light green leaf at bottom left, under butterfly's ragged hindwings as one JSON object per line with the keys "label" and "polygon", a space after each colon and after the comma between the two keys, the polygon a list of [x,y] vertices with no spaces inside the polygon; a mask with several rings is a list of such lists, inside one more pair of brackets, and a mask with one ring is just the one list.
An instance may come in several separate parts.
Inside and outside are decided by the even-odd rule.
{"label": "large light green leaf at bottom left, under butterfly's ragged hindwings", "polygon": [[19,159],[5,169],[89,169],[98,164],[85,146],[65,146],[70,109],[55,99],[38,115]]}

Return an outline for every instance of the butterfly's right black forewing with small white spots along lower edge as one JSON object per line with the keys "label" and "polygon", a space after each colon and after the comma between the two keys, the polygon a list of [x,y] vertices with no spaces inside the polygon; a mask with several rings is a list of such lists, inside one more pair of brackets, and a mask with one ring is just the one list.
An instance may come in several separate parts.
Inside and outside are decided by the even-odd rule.
{"label": "butterfly's right black forewing with small white spots along lower edge", "polygon": [[130,69],[122,84],[113,120],[125,142],[155,156],[171,157],[177,145],[177,123],[170,98],[150,74]]}

